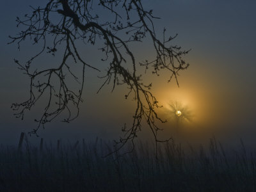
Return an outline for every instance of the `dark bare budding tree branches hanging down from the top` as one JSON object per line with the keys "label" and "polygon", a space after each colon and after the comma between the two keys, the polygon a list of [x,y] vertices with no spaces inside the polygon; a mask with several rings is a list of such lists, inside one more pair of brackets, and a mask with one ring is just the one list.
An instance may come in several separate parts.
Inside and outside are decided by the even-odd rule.
{"label": "dark bare budding tree branches hanging down from the top", "polygon": [[[17,26],[25,30],[20,31],[17,36],[10,36],[10,44],[17,43],[18,49],[27,38],[33,45],[42,45],[41,51],[26,63],[22,64],[14,60],[19,69],[30,79],[29,99],[12,104],[13,110],[17,111],[15,116],[23,118],[24,113],[35,106],[43,95],[49,98],[42,116],[35,120],[38,126],[30,133],[36,134],[40,127],[44,127],[64,111],[67,111],[68,116],[63,122],[70,122],[77,118],[79,105],[83,102],[85,69],[88,67],[100,72],[99,68],[88,64],[83,59],[77,42],[92,46],[97,42],[102,44],[100,48],[100,52],[104,53],[102,62],[109,64],[106,74],[100,77],[104,82],[98,92],[106,84],[112,84],[112,92],[117,85],[125,84],[128,87],[125,99],[132,97],[136,102],[132,125],[127,127],[125,124],[122,128],[124,136],[116,141],[118,146],[116,150],[129,141],[134,146],[134,139],[138,131],[141,131],[143,119],[150,127],[156,143],[161,142],[162,140],[157,138],[157,131],[160,129],[156,125],[157,121],[165,122],[156,112],[156,108],[161,106],[150,92],[152,83],[143,83],[138,67],[145,67],[146,72],[152,70],[152,74],[157,76],[160,70],[168,70],[170,72],[168,81],[174,78],[179,85],[178,72],[189,67],[182,56],[189,51],[182,51],[180,47],[170,45],[177,35],[166,39],[166,29],[164,29],[163,41],[159,40],[154,29],[154,20],[159,18],[153,15],[152,10],[145,10],[140,0],[51,0],[43,8],[32,6],[31,8],[31,13],[24,15],[24,19],[17,17],[16,20]],[[99,16],[100,9],[107,11],[110,19],[106,21],[106,18]],[[121,32],[125,33],[125,37],[118,36]],[[143,42],[146,35],[152,40],[156,56],[152,61],[145,60],[138,63],[129,44]],[[58,67],[44,70],[32,69],[31,64],[35,58],[45,53],[55,56],[56,52],[63,54]],[[72,72],[72,65],[68,60],[81,66],[81,78]],[[68,86],[68,80],[65,78],[66,71],[80,86],[78,92]],[[54,84],[57,82],[56,79],[58,79],[58,86]],[[76,111],[70,105],[75,106]]]}

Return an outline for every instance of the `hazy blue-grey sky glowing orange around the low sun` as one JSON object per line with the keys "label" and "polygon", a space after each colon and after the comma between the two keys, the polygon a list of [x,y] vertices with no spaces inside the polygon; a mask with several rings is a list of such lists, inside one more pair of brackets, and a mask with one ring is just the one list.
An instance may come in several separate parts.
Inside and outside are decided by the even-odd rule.
{"label": "hazy blue-grey sky glowing orange around the low sun", "polygon": [[[33,119],[40,112],[37,107],[26,114],[24,120],[13,116],[11,104],[25,100],[29,92],[29,79],[17,69],[13,58],[25,61],[34,49],[25,44],[24,49],[18,51],[17,45],[7,45],[8,35],[19,32],[15,25],[16,16],[29,12],[29,5],[36,3],[31,0],[25,3],[5,1],[0,8],[0,22],[4,26],[0,29],[0,143],[4,144],[15,144],[20,132],[31,131],[36,126]],[[166,74],[159,77],[145,75],[145,81],[153,83],[152,92],[163,104],[159,114],[168,120],[161,125],[163,135],[172,136],[175,125],[169,104],[178,101],[193,114],[191,122],[182,122],[181,140],[208,140],[214,135],[227,142],[243,138],[248,145],[256,147],[253,141],[256,134],[256,2],[148,0],[143,3],[145,9],[153,9],[154,15],[161,17],[155,20],[159,38],[166,28],[172,36],[178,33],[173,44],[191,49],[185,57],[190,66],[180,72],[179,88],[175,81],[167,83]],[[136,61],[152,56],[150,45],[148,40],[134,45]],[[92,63],[98,62],[95,49],[84,47],[84,50],[90,54]],[[39,65],[44,65],[44,62],[44,58],[38,60]],[[105,66],[104,63],[99,65]],[[124,99],[125,89],[122,87],[111,93],[111,86],[107,86],[96,94],[102,83],[97,75],[88,70],[79,118],[70,124],[56,120],[40,130],[40,137],[51,141],[60,138],[68,141],[94,140],[97,136],[107,140],[119,138],[124,123],[131,122],[132,101]],[[143,126],[140,136],[143,138],[147,134],[148,128]],[[31,140],[37,142],[35,136]]]}

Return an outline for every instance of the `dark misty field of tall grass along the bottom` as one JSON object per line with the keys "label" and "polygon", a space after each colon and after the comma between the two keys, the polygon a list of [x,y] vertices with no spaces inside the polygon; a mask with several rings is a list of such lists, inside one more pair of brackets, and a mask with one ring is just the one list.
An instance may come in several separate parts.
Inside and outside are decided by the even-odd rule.
{"label": "dark misty field of tall grass along the bottom", "polygon": [[148,143],[102,157],[109,150],[102,140],[1,145],[0,191],[256,191],[256,156],[243,142],[228,152],[214,139],[186,150],[169,142],[157,159]]}

